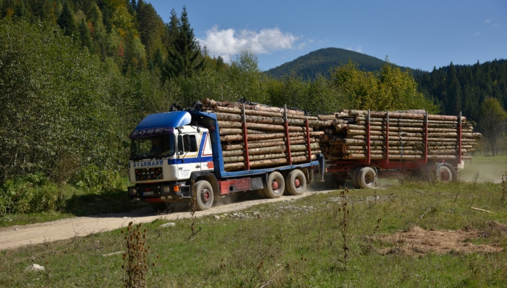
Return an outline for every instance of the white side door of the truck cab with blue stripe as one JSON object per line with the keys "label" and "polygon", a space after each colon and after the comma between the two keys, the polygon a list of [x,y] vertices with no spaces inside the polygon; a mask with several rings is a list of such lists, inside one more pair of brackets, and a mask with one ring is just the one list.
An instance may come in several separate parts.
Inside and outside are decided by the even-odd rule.
{"label": "white side door of the truck cab with blue stripe", "polygon": [[198,135],[182,133],[178,135],[178,178],[189,179],[192,172],[201,171]]}

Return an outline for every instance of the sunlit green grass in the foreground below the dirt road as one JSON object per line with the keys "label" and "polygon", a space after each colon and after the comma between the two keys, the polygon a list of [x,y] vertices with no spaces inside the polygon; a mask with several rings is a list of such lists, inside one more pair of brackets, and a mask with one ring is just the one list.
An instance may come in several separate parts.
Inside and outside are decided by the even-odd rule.
{"label": "sunlit green grass in the foreground below the dirt road", "polygon": [[[405,182],[382,190],[316,194],[250,207],[229,215],[201,217],[200,232],[189,240],[191,220],[143,227],[151,246],[148,287],[504,287],[507,281],[507,223],[501,185],[480,182]],[[347,202],[347,268],[341,214]],[[472,210],[478,207],[493,213]],[[236,215],[234,215],[236,214]],[[381,219],[378,222],[378,219]],[[378,227],[377,227],[378,225]],[[501,252],[444,254],[420,252],[400,234],[424,230],[484,231],[471,245]],[[120,287],[120,230],[0,252],[0,287]],[[401,249],[403,248],[403,249]],[[387,252],[385,252],[387,251]],[[156,259],[159,255],[159,259]],[[47,264],[44,264],[46,263]],[[37,263],[49,272],[24,272]]]}

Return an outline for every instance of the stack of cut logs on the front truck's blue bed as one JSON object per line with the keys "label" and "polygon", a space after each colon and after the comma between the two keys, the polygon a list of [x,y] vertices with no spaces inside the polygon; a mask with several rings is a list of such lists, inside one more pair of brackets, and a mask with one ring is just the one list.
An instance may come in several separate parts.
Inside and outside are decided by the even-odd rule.
{"label": "stack of cut logs on the front truck's blue bed", "polygon": [[204,111],[216,113],[226,171],[316,160],[324,135],[317,129],[331,125],[301,110],[210,99],[201,103]]}

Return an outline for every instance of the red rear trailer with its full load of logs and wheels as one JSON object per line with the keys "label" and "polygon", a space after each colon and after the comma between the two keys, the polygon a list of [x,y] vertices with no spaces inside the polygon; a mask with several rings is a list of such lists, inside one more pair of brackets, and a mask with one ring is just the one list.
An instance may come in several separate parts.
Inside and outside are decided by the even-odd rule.
{"label": "red rear trailer with its full load of logs and wheels", "polygon": [[342,135],[327,141],[331,144],[328,147],[338,148],[333,151],[339,153],[326,155],[326,186],[343,187],[346,180],[351,180],[355,188],[371,189],[377,178],[456,180],[458,168],[464,167],[463,160],[471,158],[466,155],[467,148],[473,150],[473,138],[481,134],[471,133],[471,124],[463,126],[461,113],[449,116],[423,112],[391,113],[390,118],[389,112],[351,110],[348,116],[353,120],[335,121],[347,124],[337,124],[336,130]]}

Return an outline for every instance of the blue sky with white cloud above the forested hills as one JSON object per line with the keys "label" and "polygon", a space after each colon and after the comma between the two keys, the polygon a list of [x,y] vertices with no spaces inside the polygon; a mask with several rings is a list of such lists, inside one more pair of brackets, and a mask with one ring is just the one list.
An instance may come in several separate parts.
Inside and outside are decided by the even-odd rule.
{"label": "blue sky with white cloud above the forested hills", "polygon": [[425,71],[507,59],[506,0],[146,1],[166,23],[186,6],[211,56],[250,48],[262,70],[328,47]]}

